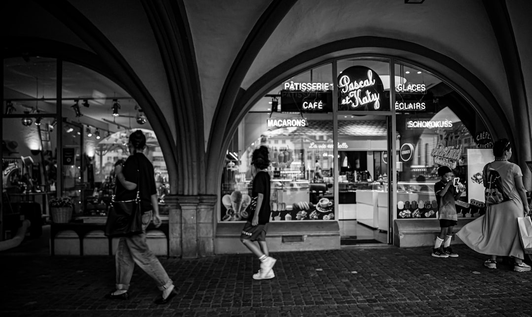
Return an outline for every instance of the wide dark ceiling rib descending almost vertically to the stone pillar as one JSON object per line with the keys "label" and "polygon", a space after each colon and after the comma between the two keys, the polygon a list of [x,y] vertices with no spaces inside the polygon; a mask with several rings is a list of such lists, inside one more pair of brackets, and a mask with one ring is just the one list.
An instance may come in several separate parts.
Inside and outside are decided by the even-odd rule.
{"label": "wide dark ceiling rib descending almost vertically to the stone pillar", "polygon": [[174,105],[179,153],[177,193],[205,193],[203,106],[185,5],[181,0],[142,1],[142,4],[161,52]]}

